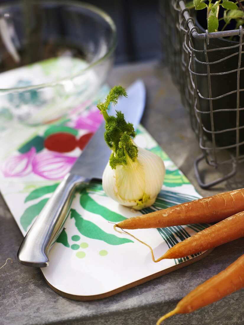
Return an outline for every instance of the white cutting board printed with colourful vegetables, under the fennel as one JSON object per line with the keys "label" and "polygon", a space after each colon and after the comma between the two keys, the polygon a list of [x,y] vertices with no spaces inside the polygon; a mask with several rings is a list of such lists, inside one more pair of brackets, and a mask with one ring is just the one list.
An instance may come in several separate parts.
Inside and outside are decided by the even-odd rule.
{"label": "white cutting board printed with colourful vegetables, under the fennel", "polygon": [[[87,100],[52,124],[36,127],[13,122],[3,130],[0,190],[23,235],[101,123],[96,102],[107,92],[108,88],[103,87],[95,100]],[[65,142],[67,138],[70,141]],[[200,197],[141,125],[135,142],[163,159],[166,175],[162,190],[155,204],[141,212],[108,198],[101,182],[91,182],[76,193],[64,229],[49,254],[50,265],[41,269],[50,287],[63,296],[78,300],[107,297],[193,263],[209,252],[154,263],[148,247],[114,231],[113,223],[125,218]],[[66,152],[59,152],[64,143]],[[159,257],[169,247],[208,226],[140,229],[131,233],[150,244]]]}

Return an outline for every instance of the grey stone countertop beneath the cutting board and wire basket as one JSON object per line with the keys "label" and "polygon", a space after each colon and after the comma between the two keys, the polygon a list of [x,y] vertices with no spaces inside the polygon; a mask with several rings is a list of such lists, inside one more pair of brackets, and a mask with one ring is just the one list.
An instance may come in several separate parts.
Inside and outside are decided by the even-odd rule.
{"label": "grey stone countertop beneath the cutting board and wire basket", "polygon": [[[242,168],[239,168],[233,178],[211,190],[199,188],[193,168],[195,158],[200,155],[198,142],[167,69],[161,68],[157,61],[118,66],[112,69],[109,84],[127,87],[137,78],[143,79],[147,88],[147,105],[142,124],[199,193],[208,196],[243,187],[244,174]],[[0,270],[0,324],[3,325],[153,325],[189,291],[244,253],[243,239],[235,240],[215,248],[195,264],[109,298],[74,301],[59,296],[49,288],[39,269],[18,263],[16,254],[23,237],[2,198],[0,224],[0,264],[4,264],[7,257],[14,261],[13,264],[8,261]],[[243,294],[243,289],[239,290],[191,314],[168,318],[163,324],[243,324]]]}

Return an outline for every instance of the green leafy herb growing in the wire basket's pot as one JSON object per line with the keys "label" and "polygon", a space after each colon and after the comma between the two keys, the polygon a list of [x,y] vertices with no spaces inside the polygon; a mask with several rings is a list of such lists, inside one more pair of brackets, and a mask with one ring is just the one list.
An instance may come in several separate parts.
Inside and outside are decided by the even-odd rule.
{"label": "green leafy herb growing in the wire basket's pot", "polygon": [[[212,0],[193,0],[187,3],[188,8],[195,8],[196,10],[202,10],[207,8],[207,22],[208,31],[216,32],[219,28],[219,22],[224,20],[225,24],[221,31],[224,31],[226,26],[232,19],[236,20],[236,29],[244,24],[244,7],[242,2],[244,0],[237,0],[236,2],[229,0],[218,0],[213,2]],[[224,8],[223,17],[219,18],[220,6]]]}

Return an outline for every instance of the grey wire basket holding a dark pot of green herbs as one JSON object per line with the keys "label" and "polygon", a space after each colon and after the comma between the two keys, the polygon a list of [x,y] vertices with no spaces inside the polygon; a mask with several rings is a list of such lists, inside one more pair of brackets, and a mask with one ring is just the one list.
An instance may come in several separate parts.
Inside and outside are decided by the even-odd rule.
{"label": "grey wire basket holding a dark pot of green herbs", "polygon": [[174,69],[183,72],[182,80],[178,79],[179,84],[185,84],[180,87],[185,97],[183,102],[188,101],[190,110],[194,111],[199,133],[212,141],[207,147],[229,149],[237,159],[244,152],[241,144],[244,143],[244,8],[241,2],[172,0],[166,13],[174,19],[173,33],[178,33],[175,40],[182,42],[177,62],[180,66]]}

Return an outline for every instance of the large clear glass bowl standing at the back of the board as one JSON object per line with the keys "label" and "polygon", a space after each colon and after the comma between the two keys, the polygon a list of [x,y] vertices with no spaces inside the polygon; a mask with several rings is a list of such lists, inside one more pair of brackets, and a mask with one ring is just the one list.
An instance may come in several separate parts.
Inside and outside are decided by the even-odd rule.
{"label": "large clear glass bowl standing at the back of the board", "polygon": [[0,6],[0,120],[47,123],[93,98],[113,62],[116,28],[95,6]]}

